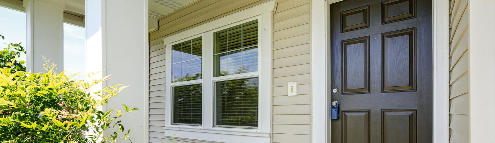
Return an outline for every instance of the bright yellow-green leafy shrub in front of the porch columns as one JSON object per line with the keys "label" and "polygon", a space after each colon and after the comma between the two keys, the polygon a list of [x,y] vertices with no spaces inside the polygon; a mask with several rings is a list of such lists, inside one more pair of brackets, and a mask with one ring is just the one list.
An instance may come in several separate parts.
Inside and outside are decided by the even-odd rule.
{"label": "bright yellow-green leafy shrub in front of the porch columns", "polygon": [[[15,61],[15,59],[14,59]],[[90,92],[95,85],[108,80],[84,81],[73,75],[55,73],[54,64],[46,64],[46,73],[16,71],[13,63],[0,69],[0,140],[1,143],[113,143],[130,140],[117,119],[136,110],[99,111],[99,107],[125,87],[106,87]],[[91,75],[94,75],[93,73]],[[91,76],[88,75],[88,76]],[[119,88],[118,88],[119,87]],[[112,130],[108,137],[103,131]],[[117,136],[123,133],[122,136]]]}

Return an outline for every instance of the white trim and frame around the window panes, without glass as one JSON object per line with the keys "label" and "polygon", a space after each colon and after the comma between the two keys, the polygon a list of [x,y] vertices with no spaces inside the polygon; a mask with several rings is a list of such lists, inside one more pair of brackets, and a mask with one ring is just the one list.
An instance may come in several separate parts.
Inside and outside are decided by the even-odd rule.
{"label": "white trim and frame around the window panes, without glass", "polygon": [[[165,78],[165,136],[214,142],[236,143],[243,141],[270,142],[271,133],[271,10],[275,0],[247,8],[222,18],[199,25],[163,39],[166,59],[171,59],[171,46],[185,40],[202,37],[202,79],[171,83],[171,60],[166,61]],[[258,19],[258,71],[213,77],[213,33],[235,25]],[[216,81],[258,77],[258,129],[224,128],[215,125]],[[202,83],[201,126],[172,124],[171,87]],[[220,137],[220,138],[219,138]],[[242,140],[241,140],[242,139]]]}

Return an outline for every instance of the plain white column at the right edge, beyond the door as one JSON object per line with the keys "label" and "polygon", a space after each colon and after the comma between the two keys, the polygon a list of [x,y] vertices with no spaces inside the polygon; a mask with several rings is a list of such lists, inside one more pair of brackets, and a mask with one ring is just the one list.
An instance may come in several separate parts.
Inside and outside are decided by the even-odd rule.
{"label": "plain white column at the right edge, beyond the door", "polygon": [[495,0],[469,0],[470,143],[495,141]]}

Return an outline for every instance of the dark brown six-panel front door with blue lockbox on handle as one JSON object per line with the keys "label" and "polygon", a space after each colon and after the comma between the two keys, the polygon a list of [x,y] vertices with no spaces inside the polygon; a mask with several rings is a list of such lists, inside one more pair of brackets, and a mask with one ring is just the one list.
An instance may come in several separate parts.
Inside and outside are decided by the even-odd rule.
{"label": "dark brown six-panel front door with blue lockbox on handle", "polygon": [[331,143],[432,142],[432,1],[331,4]]}

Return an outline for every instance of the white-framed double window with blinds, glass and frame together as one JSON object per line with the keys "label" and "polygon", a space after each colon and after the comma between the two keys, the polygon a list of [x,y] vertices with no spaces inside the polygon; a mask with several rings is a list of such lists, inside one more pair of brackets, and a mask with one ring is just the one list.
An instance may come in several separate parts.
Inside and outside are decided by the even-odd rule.
{"label": "white-framed double window with blinds, glass and frame together", "polygon": [[269,137],[270,13],[226,17],[164,39],[165,134]]}

